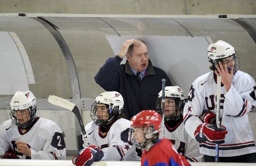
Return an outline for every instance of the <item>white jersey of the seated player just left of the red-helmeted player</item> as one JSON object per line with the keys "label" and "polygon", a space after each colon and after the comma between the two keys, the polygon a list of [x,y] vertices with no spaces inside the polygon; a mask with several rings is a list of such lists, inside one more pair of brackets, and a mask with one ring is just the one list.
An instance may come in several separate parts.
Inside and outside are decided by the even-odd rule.
{"label": "white jersey of the seated player just left of the red-helmeted player", "polygon": [[[97,126],[94,121],[89,122],[85,127],[89,145],[102,148],[104,157],[101,160],[119,161],[123,160],[124,155],[132,147],[131,142],[128,142],[129,129],[130,121],[123,118],[116,120],[105,135],[101,134],[100,126]],[[86,147],[85,144],[83,144],[83,147]],[[137,152],[134,150],[131,153],[129,152],[126,160],[140,160],[140,157],[137,156]]]}

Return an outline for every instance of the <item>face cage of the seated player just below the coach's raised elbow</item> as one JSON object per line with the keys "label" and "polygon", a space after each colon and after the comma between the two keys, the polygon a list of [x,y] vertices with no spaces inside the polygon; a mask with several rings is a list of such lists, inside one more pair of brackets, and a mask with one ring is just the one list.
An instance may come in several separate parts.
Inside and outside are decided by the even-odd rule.
{"label": "face cage of the seated player just below the coach's raised elbow", "polygon": [[121,113],[118,106],[114,107],[113,109],[112,106],[113,105],[109,107],[108,104],[102,102],[93,103],[91,106],[90,117],[94,123],[96,123],[96,125],[105,126],[115,117],[115,115]]}

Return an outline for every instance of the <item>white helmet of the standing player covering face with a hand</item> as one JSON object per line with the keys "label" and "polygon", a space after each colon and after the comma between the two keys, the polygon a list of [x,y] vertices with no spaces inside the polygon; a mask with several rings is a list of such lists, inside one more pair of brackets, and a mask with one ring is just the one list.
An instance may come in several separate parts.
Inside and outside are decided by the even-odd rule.
{"label": "white helmet of the standing player covering face with a hand", "polygon": [[228,57],[234,57],[231,59],[234,60],[234,65],[229,66],[228,69],[230,70],[230,67],[234,67],[234,75],[236,74],[237,70],[240,67],[240,61],[239,57],[235,51],[235,48],[232,45],[229,45],[227,42],[224,42],[222,40],[217,41],[214,44],[209,45],[208,47],[208,59],[209,62],[213,65],[213,69],[216,70],[216,65],[225,58]]}

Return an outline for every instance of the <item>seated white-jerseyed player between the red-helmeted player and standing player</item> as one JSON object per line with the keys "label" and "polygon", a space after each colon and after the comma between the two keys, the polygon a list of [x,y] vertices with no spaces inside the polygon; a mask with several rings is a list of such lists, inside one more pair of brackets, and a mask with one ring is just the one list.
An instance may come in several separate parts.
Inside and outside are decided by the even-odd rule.
{"label": "seated white-jerseyed player between the red-helmeted player and standing player", "polygon": [[179,86],[165,87],[165,104],[162,109],[162,90],[158,94],[156,110],[162,115],[164,113],[164,132],[161,137],[172,141],[175,149],[189,161],[202,161],[202,154],[199,152],[199,143],[189,136],[184,128],[183,107],[185,95]]}

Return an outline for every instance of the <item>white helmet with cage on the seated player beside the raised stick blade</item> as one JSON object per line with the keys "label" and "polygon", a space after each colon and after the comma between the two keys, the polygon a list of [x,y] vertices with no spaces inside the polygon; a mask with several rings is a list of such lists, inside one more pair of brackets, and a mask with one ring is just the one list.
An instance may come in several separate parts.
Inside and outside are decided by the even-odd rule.
{"label": "white helmet with cage on the seated player beside the raised stick blade", "polygon": [[[98,109],[98,104],[107,105],[109,118],[108,120],[99,120],[96,112]],[[108,124],[116,115],[121,114],[121,110],[123,109],[124,101],[123,97],[119,92],[111,91],[111,92],[103,92],[99,96],[95,98],[95,102],[91,106],[90,116],[92,120],[98,126],[104,126]]]}

